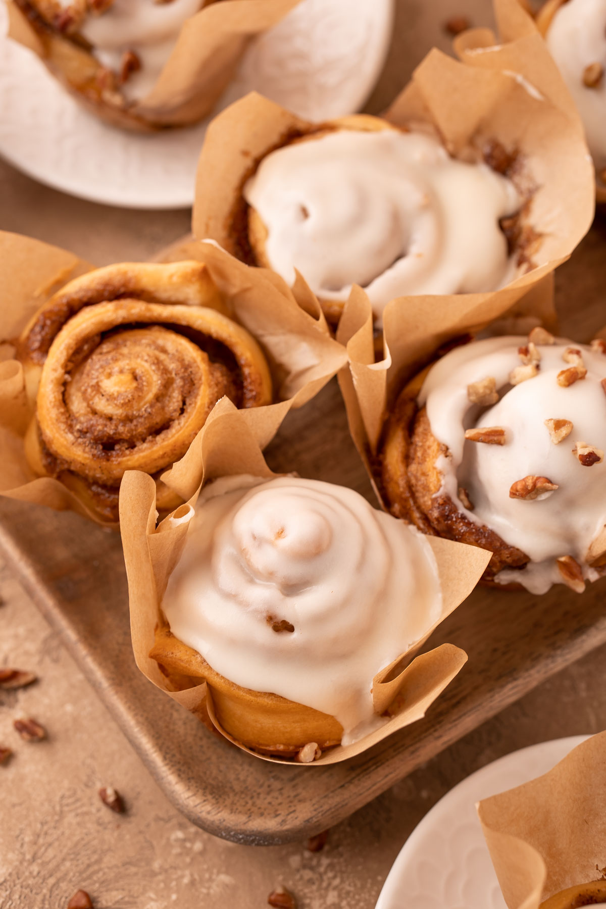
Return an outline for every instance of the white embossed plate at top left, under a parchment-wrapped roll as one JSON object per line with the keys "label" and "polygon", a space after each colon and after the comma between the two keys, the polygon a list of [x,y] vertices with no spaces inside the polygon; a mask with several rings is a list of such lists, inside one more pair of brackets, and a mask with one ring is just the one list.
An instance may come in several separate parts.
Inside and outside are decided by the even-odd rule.
{"label": "white embossed plate at top left, under a parchment-wrapped roll", "polygon": [[[373,89],[393,0],[303,0],[257,38],[217,110],[257,91],[310,120],[352,114]],[[0,0],[0,154],[42,183],[94,202],[184,208],[207,121],[136,135],[87,114],[44,65],[5,37]]]}

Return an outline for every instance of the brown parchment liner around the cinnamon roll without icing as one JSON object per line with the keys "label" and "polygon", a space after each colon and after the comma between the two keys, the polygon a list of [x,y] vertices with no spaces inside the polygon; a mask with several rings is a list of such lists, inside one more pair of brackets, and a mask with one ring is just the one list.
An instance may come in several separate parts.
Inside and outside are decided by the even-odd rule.
{"label": "brown parchment liner around the cinnamon roll without icing", "polygon": [[[277,432],[291,407],[309,401],[346,362],[346,352],[329,335],[323,318],[297,304],[286,285],[238,262],[212,244],[175,245],[164,261],[195,259],[204,263],[226,305],[226,315],[254,335],[263,347],[273,379],[275,403],[246,410],[243,424],[263,448]],[[0,494],[71,510],[98,518],[65,486],[51,477],[35,477],[24,454],[23,436],[30,422],[21,364],[10,342],[45,300],[77,275],[91,271],[77,256],[28,237],[0,232]],[[307,298],[302,285],[302,298]],[[317,306],[316,306],[317,309]],[[166,474],[166,483],[188,499],[202,481],[196,464],[199,439],[183,462]],[[190,454],[191,453],[191,454]],[[115,526],[115,524],[105,524]]]}

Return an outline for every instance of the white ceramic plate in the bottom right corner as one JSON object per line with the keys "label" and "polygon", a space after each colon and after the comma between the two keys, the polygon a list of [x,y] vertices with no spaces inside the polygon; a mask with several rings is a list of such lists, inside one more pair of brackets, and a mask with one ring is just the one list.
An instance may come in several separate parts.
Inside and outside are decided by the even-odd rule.
{"label": "white ceramic plate in the bottom right corner", "polygon": [[507,909],[475,803],[546,774],[585,738],[522,748],[455,786],[403,845],[376,909]]}

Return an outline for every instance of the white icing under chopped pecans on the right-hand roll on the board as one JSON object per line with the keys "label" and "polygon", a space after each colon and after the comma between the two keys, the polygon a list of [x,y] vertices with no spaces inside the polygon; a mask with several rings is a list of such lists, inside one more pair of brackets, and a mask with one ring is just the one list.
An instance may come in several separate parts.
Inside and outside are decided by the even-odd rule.
{"label": "white icing under chopped pecans on the right-hand roll on the board", "polygon": [[[606,524],[606,463],[583,465],[573,449],[585,443],[606,450],[601,384],[606,355],[561,339],[537,345],[541,359],[536,375],[511,385],[512,371],[522,365],[519,349],[527,345],[527,337],[509,336],[457,347],[432,367],[419,404],[427,407],[432,434],[448,447],[448,456],[438,462],[441,492],[472,521],[487,525],[531,558],[524,569],[506,569],[496,580],[515,581],[542,594],[562,581],[555,561],[562,556],[571,555],[586,579],[598,576],[586,556]],[[581,352],[587,373],[565,386],[558,375],[575,361],[576,355],[566,353],[569,348]],[[488,408],[473,405],[468,386],[487,378],[494,379],[499,401]],[[546,420],[569,421],[570,435],[555,444]],[[466,440],[465,430],[477,427],[502,428],[504,445]],[[534,499],[512,498],[512,484],[527,476],[546,477],[558,488]],[[459,499],[460,486],[469,494],[472,511]]]}

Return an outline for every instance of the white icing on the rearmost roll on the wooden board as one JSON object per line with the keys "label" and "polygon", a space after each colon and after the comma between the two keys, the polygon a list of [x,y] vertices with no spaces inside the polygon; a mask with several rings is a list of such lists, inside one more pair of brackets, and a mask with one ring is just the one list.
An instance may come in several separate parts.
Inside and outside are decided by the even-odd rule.
{"label": "white icing on the rearmost roll on the wooden board", "polygon": [[394,297],[495,290],[514,265],[499,219],[512,182],[452,158],[432,136],[337,130],[270,153],[244,186],[265,254],[325,300],[365,288],[376,316]]}

